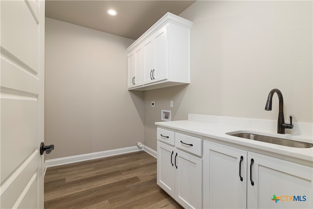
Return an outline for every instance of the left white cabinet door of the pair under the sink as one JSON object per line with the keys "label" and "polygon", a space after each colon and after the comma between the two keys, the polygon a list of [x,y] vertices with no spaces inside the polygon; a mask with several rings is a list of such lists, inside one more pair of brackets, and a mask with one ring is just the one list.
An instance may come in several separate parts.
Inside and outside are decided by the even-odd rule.
{"label": "left white cabinet door of the pair under the sink", "polygon": [[245,209],[245,150],[203,141],[203,208]]}

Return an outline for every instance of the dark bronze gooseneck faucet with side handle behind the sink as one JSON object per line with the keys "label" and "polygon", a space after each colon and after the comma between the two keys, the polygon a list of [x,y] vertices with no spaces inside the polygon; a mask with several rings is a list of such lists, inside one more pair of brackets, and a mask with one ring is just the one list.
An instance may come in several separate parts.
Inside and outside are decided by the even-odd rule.
{"label": "dark bronze gooseneck faucet with side handle behind the sink", "polygon": [[278,112],[278,121],[277,121],[277,133],[278,134],[285,134],[285,128],[292,129],[292,116],[290,116],[290,124],[285,123],[284,118],[284,100],[283,100],[283,94],[278,89],[272,89],[268,93],[268,101],[265,105],[265,110],[271,111],[272,110],[272,98],[274,93],[277,93],[278,99],[279,99],[279,112]]}

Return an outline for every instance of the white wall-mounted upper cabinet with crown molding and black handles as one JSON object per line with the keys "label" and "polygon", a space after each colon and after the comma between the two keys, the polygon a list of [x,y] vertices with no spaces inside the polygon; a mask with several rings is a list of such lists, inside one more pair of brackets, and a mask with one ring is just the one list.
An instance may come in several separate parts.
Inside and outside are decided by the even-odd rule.
{"label": "white wall-mounted upper cabinet with crown molding and black handles", "polygon": [[[126,49],[128,90],[151,90],[190,83],[190,28],[192,22],[165,14]],[[135,48],[142,51],[140,63]]]}

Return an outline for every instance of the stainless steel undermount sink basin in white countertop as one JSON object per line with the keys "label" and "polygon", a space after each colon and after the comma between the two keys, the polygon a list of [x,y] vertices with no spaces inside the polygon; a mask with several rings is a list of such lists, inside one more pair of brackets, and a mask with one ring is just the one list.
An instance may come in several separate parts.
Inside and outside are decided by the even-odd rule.
{"label": "stainless steel undermount sink basin in white countertop", "polygon": [[251,133],[226,133],[227,135],[240,137],[244,139],[251,139],[257,141],[263,141],[271,144],[279,144],[283,146],[296,147],[296,148],[311,148],[313,144],[302,142],[302,141],[294,141],[290,139],[281,139],[275,137],[268,137],[264,135],[251,134]]}

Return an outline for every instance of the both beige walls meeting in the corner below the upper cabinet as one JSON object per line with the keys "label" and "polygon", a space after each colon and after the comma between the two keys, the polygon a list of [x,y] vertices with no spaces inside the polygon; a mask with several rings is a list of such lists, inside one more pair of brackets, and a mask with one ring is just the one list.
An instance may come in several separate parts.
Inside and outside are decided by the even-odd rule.
{"label": "both beige walls meeting in the corner below the upper cabinet", "polygon": [[273,88],[283,93],[286,120],[313,122],[312,1],[196,1],[180,16],[194,23],[191,84],[146,92],[126,90],[125,49],[134,40],[46,19],[45,143],[55,144],[46,159],[136,141],[156,150],[162,109],[173,120],[276,120],[277,95],[264,110]]}

